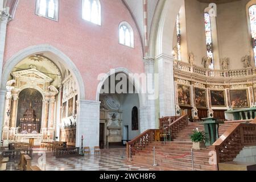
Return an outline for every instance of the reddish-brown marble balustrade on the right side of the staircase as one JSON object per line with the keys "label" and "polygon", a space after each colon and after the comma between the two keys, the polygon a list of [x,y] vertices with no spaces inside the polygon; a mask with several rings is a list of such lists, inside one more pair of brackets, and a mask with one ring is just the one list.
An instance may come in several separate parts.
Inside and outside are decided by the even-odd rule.
{"label": "reddish-brown marble balustrade on the right side of the staircase", "polygon": [[245,146],[256,145],[256,123],[234,123],[210,146],[216,151],[217,164],[232,161]]}

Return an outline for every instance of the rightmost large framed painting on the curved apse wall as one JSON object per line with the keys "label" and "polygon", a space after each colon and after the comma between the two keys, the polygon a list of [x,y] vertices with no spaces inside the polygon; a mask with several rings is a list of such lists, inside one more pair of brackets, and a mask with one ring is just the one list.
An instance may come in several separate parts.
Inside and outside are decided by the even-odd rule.
{"label": "rightmost large framed painting on the curved apse wall", "polygon": [[249,107],[248,90],[230,90],[230,101],[233,109]]}

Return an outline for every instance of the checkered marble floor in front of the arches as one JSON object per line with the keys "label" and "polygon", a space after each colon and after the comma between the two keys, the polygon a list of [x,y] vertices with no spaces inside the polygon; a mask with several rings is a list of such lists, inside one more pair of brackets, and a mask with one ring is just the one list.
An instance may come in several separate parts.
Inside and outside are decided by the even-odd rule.
{"label": "checkered marble floor in front of the arches", "polygon": [[[125,150],[119,153],[104,152],[101,155],[79,156],[75,158],[55,158],[52,152],[34,150],[32,166],[43,171],[154,171],[148,168],[127,163]],[[7,171],[18,171],[17,164],[8,163]]]}

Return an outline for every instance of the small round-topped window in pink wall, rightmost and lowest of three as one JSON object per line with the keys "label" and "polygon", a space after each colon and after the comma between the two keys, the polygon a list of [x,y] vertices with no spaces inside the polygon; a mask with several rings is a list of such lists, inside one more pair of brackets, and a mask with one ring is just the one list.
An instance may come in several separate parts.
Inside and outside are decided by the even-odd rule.
{"label": "small round-topped window in pink wall, rightmost and lowest of three", "polygon": [[119,43],[125,46],[134,47],[133,28],[127,22],[119,24]]}

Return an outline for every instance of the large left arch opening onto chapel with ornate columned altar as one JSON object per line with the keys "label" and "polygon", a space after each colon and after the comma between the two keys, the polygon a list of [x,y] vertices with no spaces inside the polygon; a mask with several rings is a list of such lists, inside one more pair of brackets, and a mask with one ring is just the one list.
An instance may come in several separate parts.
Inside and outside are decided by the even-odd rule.
{"label": "large left arch opening onto chapel with ornate columned altar", "polygon": [[64,53],[48,45],[20,51],[5,64],[1,88],[7,90],[1,108],[4,115],[2,139],[5,144],[10,140],[26,142],[24,138],[27,137],[19,129],[20,119],[23,120],[21,113],[27,109],[39,113],[40,108],[39,104],[33,102],[31,108],[21,108],[21,103],[30,100],[29,97],[33,95],[23,94],[23,90],[37,90],[42,95],[42,116],[35,114],[40,121],[39,132],[35,135],[35,132],[28,131],[28,134],[35,135],[38,141],[62,140],[77,145],[78,103],[85,97],[84,82],[76,66]]}

